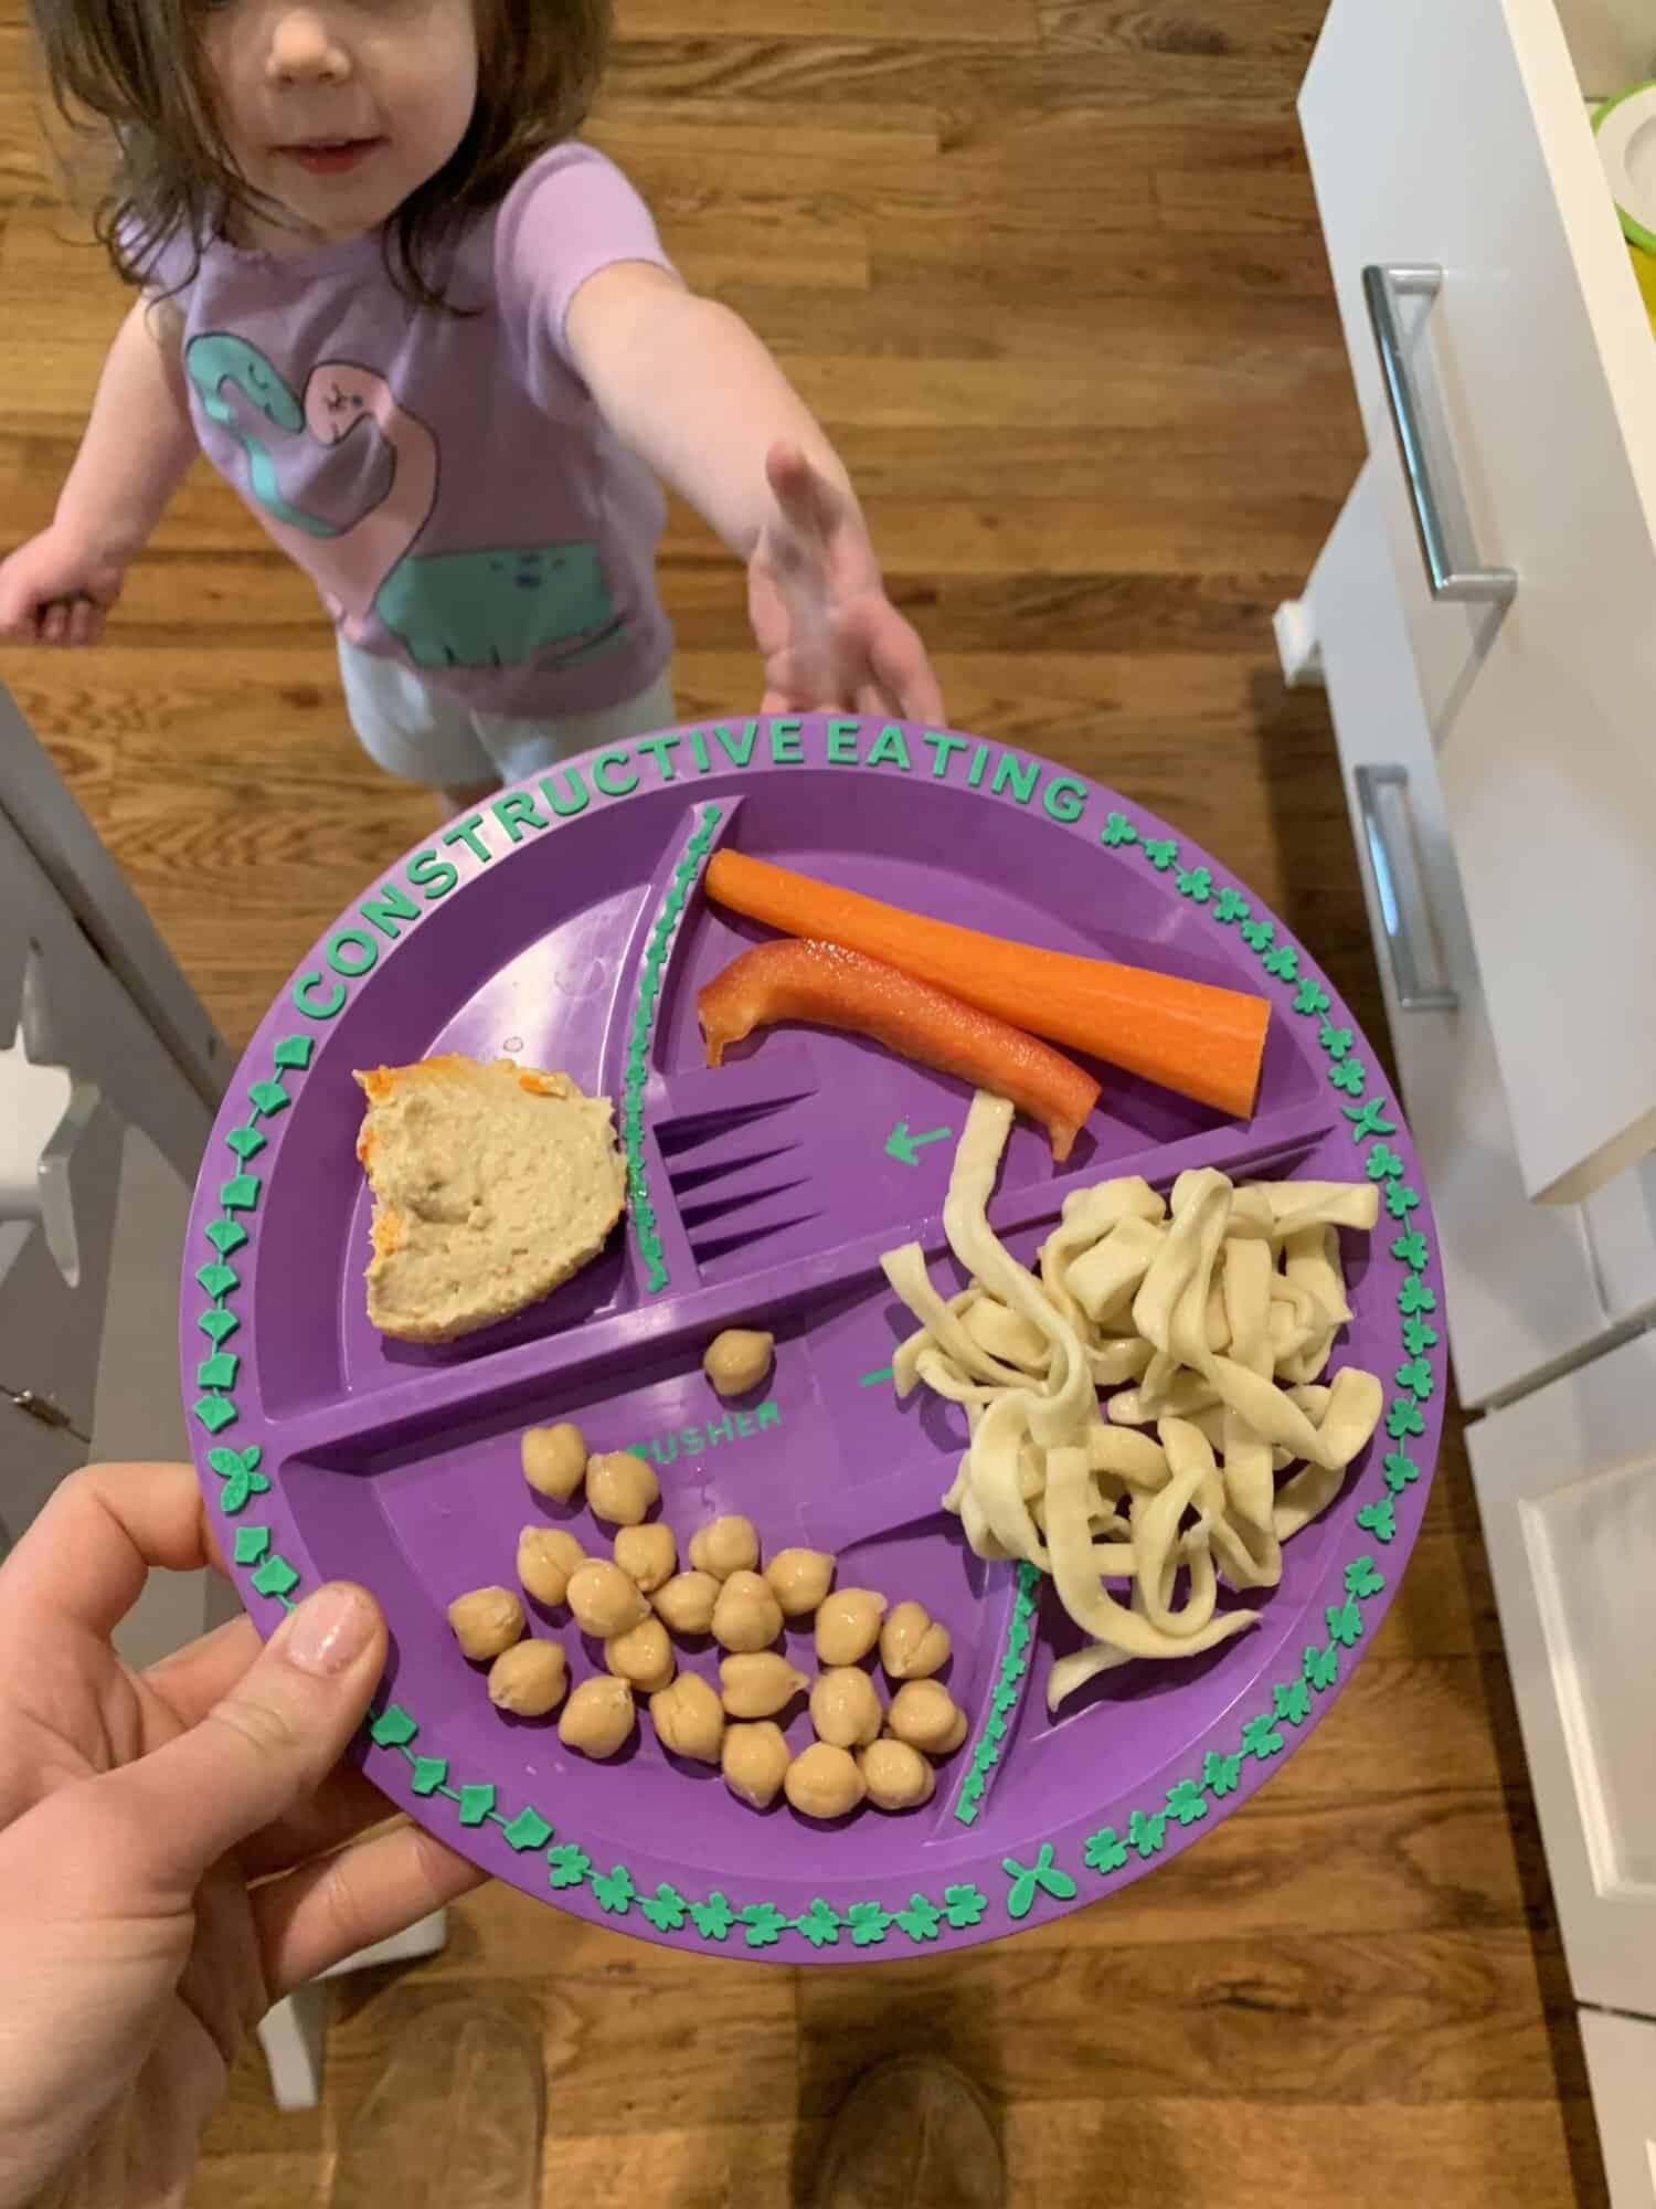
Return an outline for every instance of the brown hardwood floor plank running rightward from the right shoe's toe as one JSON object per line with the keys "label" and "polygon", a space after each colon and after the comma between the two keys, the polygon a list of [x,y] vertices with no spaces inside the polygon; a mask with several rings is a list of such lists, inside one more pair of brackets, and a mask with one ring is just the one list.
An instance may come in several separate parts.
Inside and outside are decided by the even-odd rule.
{"label": "brown hardwood floor plank running rightward from the right shoe's toe", "polygon": [[[1111,2019],[1133,2030],[1111,2030]],[[799,2112],[828,2116],[874,2048],[934,2048],[1009,2101],[1294,2105],[1552,2096],[1521,1926],[1102,1948],[1025,1940],[877,1973],[799,1975]],[[1104,2050],[1108,2059],[1102,2061]],[[1212,2180],[1210,2180],[1212,2182]]]}

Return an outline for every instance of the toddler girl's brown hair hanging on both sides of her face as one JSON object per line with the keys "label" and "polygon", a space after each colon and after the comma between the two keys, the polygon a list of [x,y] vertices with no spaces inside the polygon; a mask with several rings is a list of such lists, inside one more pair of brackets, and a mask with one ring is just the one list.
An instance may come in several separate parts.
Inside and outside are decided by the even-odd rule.
{"label": "toddler girl's brown hair hanging on both sides of her face", "polygon": [[[386,223],[386,267],[408,298],[444,307],[431,256],[468,208],[495,205],[528,163],[574,133],[609,49],[612,0],[475,0],[477,106],[455,155]],[[117,172],[97,234],[126,283],[159,247],[208,239],[225,210],[261,201],[230,166],[201,66],[201,0],[33,0],[53,99],[75,128],[115,133]]]}

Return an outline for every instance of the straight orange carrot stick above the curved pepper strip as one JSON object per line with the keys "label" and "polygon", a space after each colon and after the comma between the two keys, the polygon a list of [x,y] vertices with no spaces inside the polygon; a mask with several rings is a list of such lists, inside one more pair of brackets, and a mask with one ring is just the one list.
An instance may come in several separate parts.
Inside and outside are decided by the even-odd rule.
{"label": "straight orange carrot stick above the curved pepper strip", "polygon": [[1239,1120],[1254,1109],[1270,1023],[1263,996],[985,937],[729,848],[713,853],[707,890],[753,921],[883,959],[980,1012]]}

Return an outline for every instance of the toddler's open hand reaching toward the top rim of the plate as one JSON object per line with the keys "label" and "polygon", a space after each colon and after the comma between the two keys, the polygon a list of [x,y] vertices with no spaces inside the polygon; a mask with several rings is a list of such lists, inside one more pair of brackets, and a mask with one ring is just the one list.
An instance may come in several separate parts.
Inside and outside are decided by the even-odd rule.
{"label": "toddler's open hand reaching toward the top rim of the plate", "polygon": [[941,722],[925,645],[885,596],[852,499],[790,444],[771,446],[764,473],[775,508],[749,561],[749,619],[766,683],[760,711],[839,707]]}

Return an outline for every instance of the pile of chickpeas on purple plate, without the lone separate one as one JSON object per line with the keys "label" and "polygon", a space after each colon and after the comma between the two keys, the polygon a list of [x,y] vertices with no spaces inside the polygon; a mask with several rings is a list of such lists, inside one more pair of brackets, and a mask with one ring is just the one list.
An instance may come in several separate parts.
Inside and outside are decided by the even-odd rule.
{"label": "pile of chickpeas on purple plate, without the lone separate one", "polygon": [[[647,1524],[660,1500],[649,1465],[631,1451],[590,1456],[567,1423],[523,1436],[523,1478],[559,1502],[585,1484],[594,1518],[616,1529],[612,1557],[590,1557],[561,1526],[526,1526],[517,1537],[521,1586],[539,1604],[567,1606],[581,1632],[603,1643],[605,1677],[570,1694],[559,1643],[526,1639],[521,1597],[473,1588],[448,1606],[448,1624],[461,1652],[488,1663],[499,1710],[541,1719],[563,1703],[559,1741],[607,1758],[631,1741],[638,1699],[647,1699],[662,1747],[718,1765],[753,1809],[768,1809],[777,1794],[806,1818],[932,1800],[932,1758],[960,1747],[967,1721],[934,1677],[949,1661],[949,1632],[921,1604],[888,1608],[872,1588],[835,1588],[835,1560],[815,1549],[782,1549],[762,1568],[744,1518],[702,1526],[680,1564],[671,1526]],[[775,1648],[784,1621],[804,1619],[815,1632],[815,1679]],[[680,1672],[673,1655],[671,1637],[702,1635],[724,1650],[718,1690]],[[890,1703],[863,1670],[874,1648]],[[817,1738],[795,1756],[777,1721],[799,1697],[808,1697]]]}

